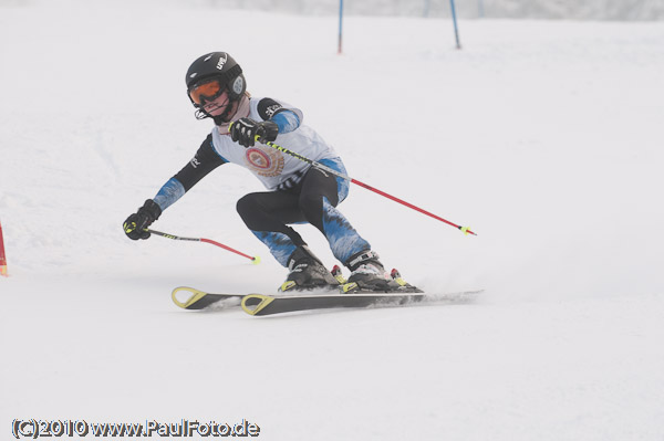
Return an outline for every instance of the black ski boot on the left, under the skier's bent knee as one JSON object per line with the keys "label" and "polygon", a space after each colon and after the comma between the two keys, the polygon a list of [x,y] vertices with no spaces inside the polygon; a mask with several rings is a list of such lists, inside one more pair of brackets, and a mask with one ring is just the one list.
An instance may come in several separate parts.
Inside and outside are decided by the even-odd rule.
{"label": "black ski boot on the left, under the skier's bent knee", "polygon": [[290,273],[279,287],[280,292],[339,288],[339,281],[307,245],[293,251],[288,260],[288,269]]}

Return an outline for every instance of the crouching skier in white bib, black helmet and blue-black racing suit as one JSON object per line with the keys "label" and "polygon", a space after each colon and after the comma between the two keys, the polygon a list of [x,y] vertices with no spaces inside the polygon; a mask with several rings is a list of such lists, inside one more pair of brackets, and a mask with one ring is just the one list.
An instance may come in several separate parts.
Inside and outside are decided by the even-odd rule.
{"label": "crouching skier in white bib, black helmet and blue-black racing suit", "polygon": [[349,182],[290,155],[256,144],[278,141],[290,150],[345,174],[344,165],[318,133],[302,124],[302,112],[281,101],[252,97],[242,69],[226,52],[198,57],[187,71],[187,95],[198,119],[215,127],[194,158],[124,222],[132,240],[148,239],[146,229],[207,174],[227,162],[249,169],[269,191],[237,202],[237,211],[289,274],[280,291],[300,291],[339,282],[289,224],[308,222],[326,238],[334,256],[350,269],[349,283],[361,290],[392,291],[394,282],[369,242],[336,209]]}

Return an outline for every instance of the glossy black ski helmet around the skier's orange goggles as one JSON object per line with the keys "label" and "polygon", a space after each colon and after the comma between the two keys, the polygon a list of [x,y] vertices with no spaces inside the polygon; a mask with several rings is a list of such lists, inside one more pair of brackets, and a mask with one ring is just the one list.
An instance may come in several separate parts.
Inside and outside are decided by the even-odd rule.
{"label": "glossy black ski helmet around the skier's orange goggles", "polygon": [[[234,57],[226,52],[210,52],[196,59],[187,70],[185,78],[187,96],[189,96],[189,91],[196,83],[211,77],[219,77],[221,83],[226,84],[231,104],[239,101],[247,91],[247,82],[245,81],[245,75],[242,75],[242,67],[240,67]],[[189,99],[191,101],[190,96]],[[191,104],[198,108],[197,117],[206,118],[211,116],[193,101]]]}

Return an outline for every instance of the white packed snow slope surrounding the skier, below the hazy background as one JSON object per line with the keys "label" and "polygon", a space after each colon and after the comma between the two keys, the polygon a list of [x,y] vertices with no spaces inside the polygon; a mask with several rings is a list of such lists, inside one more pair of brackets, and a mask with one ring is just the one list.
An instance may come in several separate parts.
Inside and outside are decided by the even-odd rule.
{"label": "white packed snow slope surrounding the skier, below the hazy background", "polygon": [[[664,24],[334,18],[157,3],[0,10],[0,438],[14,419],[238,422],[264,440],[662,440]],[[118,7],[116,4],[124,4]],[[133,242],[122,222],[210,130],[184,76],[229,51],[349,174],[383,262],[475,304],[250,317],[273,293],[222,166]],[[288,146],[287,146],[288,147]],[[330,266],[321,234],[298,227]]]}

